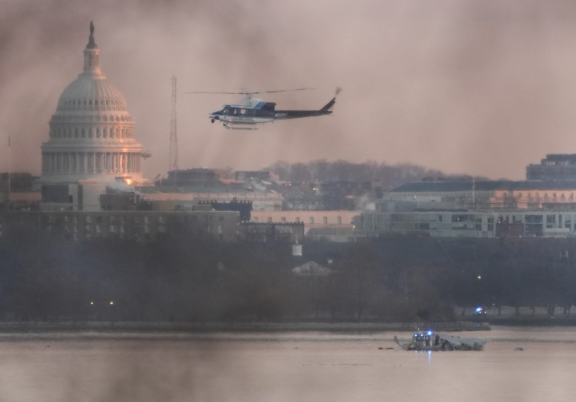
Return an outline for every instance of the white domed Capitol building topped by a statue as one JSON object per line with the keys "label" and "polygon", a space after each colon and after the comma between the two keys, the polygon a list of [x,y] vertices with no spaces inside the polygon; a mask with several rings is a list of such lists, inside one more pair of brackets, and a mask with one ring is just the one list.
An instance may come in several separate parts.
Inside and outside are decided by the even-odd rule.
{"label": "white domed Capitol building topped by a statue", "polygon": [[58,100],[42,144],[42,209],[95,211],[106,187],[151,183],[142,177],[142,144],[126,99],[100,70],[90,23],[84,69]]}

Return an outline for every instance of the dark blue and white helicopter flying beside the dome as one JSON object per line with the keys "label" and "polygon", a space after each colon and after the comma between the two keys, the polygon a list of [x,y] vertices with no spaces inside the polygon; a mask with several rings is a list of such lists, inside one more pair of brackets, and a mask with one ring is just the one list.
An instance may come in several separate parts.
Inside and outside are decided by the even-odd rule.
{"label": "dark blue and white helicopter flying beside the dome", "polygon": [[336,88],[334,97],[318,110],[276,110],[276,103],[266,102],[254,98],[257,94],[270,94],[277,92],[304,91],[312,88],[280,89],[273,91],[241,91],[241,92],[186,92],[195,94],[225,94],[246,95],[238,103],[225,104],[222,109],[208,115],[212,123],[219,121],[229,130],[256,130],[258,124],[271,123],[276,120],[300,119],[303,117],[326,116],[332,114],[332,106],[336,97],[342,91]]}

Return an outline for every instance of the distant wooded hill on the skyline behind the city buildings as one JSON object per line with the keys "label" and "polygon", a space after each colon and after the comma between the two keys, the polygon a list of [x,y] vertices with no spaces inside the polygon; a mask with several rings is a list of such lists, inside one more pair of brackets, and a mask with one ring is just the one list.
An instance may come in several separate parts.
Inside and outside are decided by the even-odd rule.
{"label": "distant wooded hill on the skyline behind the city buildings", "polygon": [[370,181],[379,182],[384,190],[391,190],[401,184],[419,181],[424,178],[460,177],[449,176],[440,170],[427,169],[410,163],[388,165],[367,161],[352,163],[343,160],[334,162],[316,160],[308,163],[278,161],[268,168],[280,180],[289,182],[327,181]]}

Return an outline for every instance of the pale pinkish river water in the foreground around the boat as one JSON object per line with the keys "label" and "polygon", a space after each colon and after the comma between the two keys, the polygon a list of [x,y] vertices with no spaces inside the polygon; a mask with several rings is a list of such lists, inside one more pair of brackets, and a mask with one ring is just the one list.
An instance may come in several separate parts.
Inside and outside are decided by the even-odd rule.
{"label": "pale pinkish river water in the foreground around the boat", "polygon": [[576,400],[576,329],[460,334],[489,339],[483,352],[406,352],[394,335],[410,337],[0,335],[0,401]]}

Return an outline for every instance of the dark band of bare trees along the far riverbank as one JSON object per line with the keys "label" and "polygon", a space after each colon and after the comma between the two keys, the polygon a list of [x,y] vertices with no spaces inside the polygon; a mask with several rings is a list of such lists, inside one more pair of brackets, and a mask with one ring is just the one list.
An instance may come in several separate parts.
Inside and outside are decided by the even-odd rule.
{"label": "dark band of bare trees along the far riverbank", "polygon": [[[454,307],[571,307],[575,241],[385,239],[222,244],[0,237],[4,321],[439,322]],[[307,261],[327,276],[298,276]]]}

